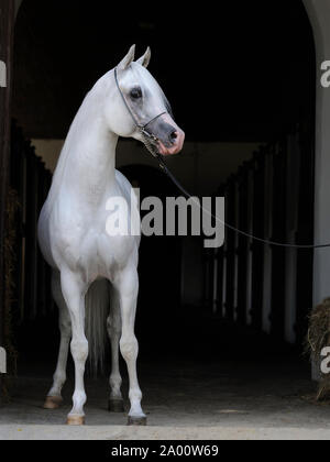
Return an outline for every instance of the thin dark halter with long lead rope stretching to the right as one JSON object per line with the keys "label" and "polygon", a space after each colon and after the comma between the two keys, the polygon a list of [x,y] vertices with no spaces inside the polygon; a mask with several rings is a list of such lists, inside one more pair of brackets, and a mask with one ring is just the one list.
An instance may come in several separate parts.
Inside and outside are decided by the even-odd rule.
{"label": "thin dark halter with long lead rope stretching to the right", "polygon": [[116,85],[117,88],[120,92],[120,96],[124,102],[124,106],[127,107],[129,113],[131,114],[131,118],[133,119],[133,122],[135,123],[135,127],[138,129],[138,131],[140,132],[141,136],[142,136],[142,142],[145,145],[145,147],[147,148],[147,151],[157,160],[158,165],[161,167],[161,169],[169,177],[169,179],[174,183],[174,185],[184,194],[184,196],[186,196],[188,199],[191,199],[193,201],[196,202],[196,205],[205,212],[208,213],[210,217],[212,217],[213,219],[216,219],[218,222],[220,222],[223,227],[226,227],[227,229],[237,232],[238,234],[243,235],[246,239],[252,239],[256,242],[260,242],[261,244],[266,244],[266,245],[273,245],[276,248],[284,248],[284,249],[301,249],[301,250],[314,250],[314,249],[328,249],[330,248],[330,244],[307,244],[307,245],[298,245],[298,244],[285,244],[282,242],[276,242],[276,241],[270,241],[266,239],[262,239],[262,238],[256,238],[253,234],[250,234],[245,231],[239,230],[235,227],[232,227],[231,224],[228,224],[226,221],[220,220],[219,217],[215,216],[213,213],[211,213],[209,210],[206,210],[199,201],[196,200],[196,198],[194,196],[191,196],[183,186],[182,184],[176,179],[176,177],[173,175],[173,173],[168,169],[167,165],[164,162],[163,156],[158,153],[155,143],[158,142],[158,139],[153,135],[152,133],[148,133],[145,129],[147,125],[150,125],[153,121],[157,120],[160,117],[166,114],[167,112],[162,112],[158,116],[154,117],[153,119],[151,119],[147,123],[145,123],[144,125],[142,123],[138,122],[138,118],[133,114],[133,111],[131,110],[128,101],[125,100],[125,97],[123,96],[123,92],[121,91],[121,88],[119,86],[119,81],[118,81],[118,72],[117,68],[114,68],[114,80],[116,80]]}

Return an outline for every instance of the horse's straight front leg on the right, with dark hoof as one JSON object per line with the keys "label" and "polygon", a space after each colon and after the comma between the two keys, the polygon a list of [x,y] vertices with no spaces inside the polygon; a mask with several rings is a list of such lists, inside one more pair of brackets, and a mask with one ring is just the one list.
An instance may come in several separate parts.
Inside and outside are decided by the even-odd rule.
{"label": "horse's straight front leg on the right, with dark hoof", "polygon": [[146,425],[146,416],[141,408],[142,393],[139,386],[136,373],[136,359],[139,344],[134,333],[136,301],[139,292],[138,271],[134,265],[128,266],[117,278],[116,287],[119,292],[120,311],[122,321],[122,336],[120,351],[127,362],[130,380],[129,425]]}

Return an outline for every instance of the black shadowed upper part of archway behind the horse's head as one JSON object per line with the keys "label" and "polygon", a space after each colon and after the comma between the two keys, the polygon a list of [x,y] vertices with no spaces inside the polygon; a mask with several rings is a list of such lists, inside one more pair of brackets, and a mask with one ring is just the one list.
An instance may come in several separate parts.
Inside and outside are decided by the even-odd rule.
{"label": "black shadowed upper part of archway behind the horse's head", "polygon": [[312,111],[315,50],[300,0],[25,0],[15,32],[14,116],[65,138],[88,89],[136,43],[190,141],[268,141]]}

